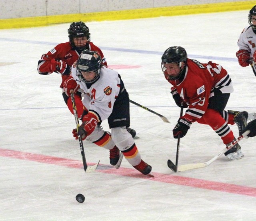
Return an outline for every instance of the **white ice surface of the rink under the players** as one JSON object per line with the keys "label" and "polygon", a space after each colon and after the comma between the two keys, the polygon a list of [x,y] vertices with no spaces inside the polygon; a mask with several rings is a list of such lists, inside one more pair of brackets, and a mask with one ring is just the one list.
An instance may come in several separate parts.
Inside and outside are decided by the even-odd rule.
{"label": "white ice surface of the rink under the players", "polygon": [[[116,69],[130,99],[171,122],[130,105],[131,127],[140,137],[136,145],[155,178],[140,175],[125,159],[114,169],[108,151],[88,142],[87,161],[100,160],[100,165],[95,173],[84,173],[60,75],[42,76],[36,70],[43,53],[68,41],[69,24],[0,30],[0,221],[255,221],[256,138],[241,141],[245,157],[237,161],[222,156],[209,167],[182,173],[167,167],[168,159],[175,162],[172,129],[180,109],[160,67],[164,50],[183,46],[189,58],[212,60],[228,70],[234,92],[227,109],[256,112],[256,78],[235,56],[247,15],[87,23],[110,67],[138,66]],[[102,125],[108,129],[106,122]],[[230,127],[238,136],[236,125]],[[223,148],[209,126],[193,123],[181,139],[179,164],[208,161]],[[75,199],[78,193],[86,198],[82,204]]]}

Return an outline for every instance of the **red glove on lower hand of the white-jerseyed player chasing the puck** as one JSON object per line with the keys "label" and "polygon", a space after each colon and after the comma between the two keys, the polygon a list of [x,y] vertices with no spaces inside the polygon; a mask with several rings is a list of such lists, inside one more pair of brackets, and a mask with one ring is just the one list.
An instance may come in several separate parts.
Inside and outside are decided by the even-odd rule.
{"label": "red glove on lower hand of the white-jerseyed player chasing the puck", "polygon": [[83,123],[78,128],[78,134],[84,140],[94,131],[95,127],[98,125],[98,121],[92,113],[85,115],[82,121]]}

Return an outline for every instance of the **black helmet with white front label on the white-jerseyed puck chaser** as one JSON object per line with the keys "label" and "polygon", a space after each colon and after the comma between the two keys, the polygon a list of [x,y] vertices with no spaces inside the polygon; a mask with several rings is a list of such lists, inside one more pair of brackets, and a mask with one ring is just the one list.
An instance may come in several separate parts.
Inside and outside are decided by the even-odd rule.
{"label": "black helmet with white front label on the white-jerseyed puck chaser", "polygon": [[[84,50],[80,54],[77,64],[76,64],[76,75],[78,78],[85,83],[94,83],[100,78],[100,68],[102,59],[98,52]],[[88,81],[84,78],[81,72],[95,72],[96,76]]]}

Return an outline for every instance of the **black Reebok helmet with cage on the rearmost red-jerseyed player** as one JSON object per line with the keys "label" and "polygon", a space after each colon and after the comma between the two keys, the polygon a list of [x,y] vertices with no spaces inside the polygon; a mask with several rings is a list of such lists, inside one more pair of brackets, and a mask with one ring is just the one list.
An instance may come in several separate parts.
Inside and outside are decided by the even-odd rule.
{"label": "black Reebok helmet with cage on the rearmost red-jerseyed player", "polygon": [[[86,46],[90,43],[90,31],[89,28],[84,24],[84,22],[73,22],[70,24],[68,29],[69,42],[75,50],[82,51],[86,49]],[[74,38],[86,37],[87,43],[83,46],[76,46],[74,43]]]}

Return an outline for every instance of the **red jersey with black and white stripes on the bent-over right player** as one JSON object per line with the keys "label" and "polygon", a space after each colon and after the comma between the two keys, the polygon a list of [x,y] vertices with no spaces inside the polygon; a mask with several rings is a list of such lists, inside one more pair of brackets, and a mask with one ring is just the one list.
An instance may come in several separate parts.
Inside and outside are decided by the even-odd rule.
{"label": "red jersey with black and white stripes on the bent-over right player", "polygon": [[169,80],[169,82],[188,104],[184,117],[192,122],[204,115],[209,98],[214,96],[214,88],[218,88],[223,94],[233,92],[230,76],[222,66],[213,62],[202,64],[194,59],[187,60],[186,73],[182,82],[178,80]]}

